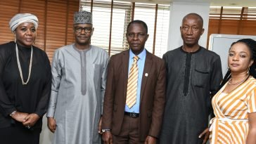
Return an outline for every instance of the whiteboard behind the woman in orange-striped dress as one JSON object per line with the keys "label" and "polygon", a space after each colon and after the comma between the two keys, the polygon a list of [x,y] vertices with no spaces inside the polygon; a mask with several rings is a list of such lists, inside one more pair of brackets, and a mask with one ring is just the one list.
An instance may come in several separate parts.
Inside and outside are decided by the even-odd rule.
{"label": "whiteboard behind the woman in orange-striped dress", "polygon": [[250,35],[234,35],[234,34],[211,34],[209,41],[209,50],[214,51],[222,60],[222,74],[226,74],[228,70],[228,54],[231,44],[239,39],[254,39],[256,36]]}

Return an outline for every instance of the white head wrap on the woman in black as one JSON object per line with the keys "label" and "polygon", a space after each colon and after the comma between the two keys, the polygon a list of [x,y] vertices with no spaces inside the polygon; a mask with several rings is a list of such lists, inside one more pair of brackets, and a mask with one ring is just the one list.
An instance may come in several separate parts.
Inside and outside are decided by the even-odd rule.
{"label": "white head wrap on the woman in black", "polygon": [[32,15],[31,13],[18,13],[14,15],[9,22],[11,32],[14,32],[14,30],[23,22],[32,22],[36,29],[39,23],[36,15]]}

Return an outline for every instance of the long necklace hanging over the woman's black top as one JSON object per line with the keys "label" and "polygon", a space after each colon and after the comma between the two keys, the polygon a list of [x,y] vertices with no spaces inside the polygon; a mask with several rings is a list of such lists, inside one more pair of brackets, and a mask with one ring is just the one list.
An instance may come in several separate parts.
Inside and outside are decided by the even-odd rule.
{"label": "long necklace hanging over the woman's black top", "polygon": [[20,78],[21,78],[21,81],[23,82],[23,85],[26,85],[28,83],[28,81],[30,81],[30,74],[31,74],[31,67],[32,67],[32,59],[33,59],[33,47],[31,45],[31,54],[30,54],[30,67],[29,67],[29,71],[28,71],[28,77],[27,77],[27,81],[24,82],[23,80],[23,71],[21,70],[21,67],[20,67],[20,58],[19,58],[19,52],[18,52],[18,46],[16,44],[16,57],[17,57],[17,63],[18,63],[18,68],[19,68],[19,72],[20,72]]}

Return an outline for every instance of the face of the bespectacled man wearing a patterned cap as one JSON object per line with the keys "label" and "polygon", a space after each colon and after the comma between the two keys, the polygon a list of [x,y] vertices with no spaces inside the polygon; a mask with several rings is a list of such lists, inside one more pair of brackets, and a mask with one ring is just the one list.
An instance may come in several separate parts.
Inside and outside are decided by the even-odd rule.
{"label": "face of the bespectacled man wearing a patterned cap", "polygon": [[90,44],[93,32],[94,28],[91,24],[74,25],[75,42],[81,46]]}

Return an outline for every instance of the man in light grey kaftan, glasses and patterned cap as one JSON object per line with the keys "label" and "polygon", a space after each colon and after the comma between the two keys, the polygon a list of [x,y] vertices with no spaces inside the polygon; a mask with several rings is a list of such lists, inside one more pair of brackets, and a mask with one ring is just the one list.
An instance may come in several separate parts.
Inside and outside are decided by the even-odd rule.
{"label": "man in light grey kaftan, glasses and patterned cap", "polygon": [[[75,14],[75,44],[58,48],[51,65],[53,79],[46,117],[55,144],[101,143],[98,126],[108,53],[89,44],[93,27],[85,23],[87,19],[83,22],[87,18],[84,13],[89,12]],[[82,22],[76,21],[76,15],[82,16]]]}

